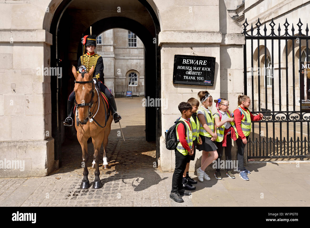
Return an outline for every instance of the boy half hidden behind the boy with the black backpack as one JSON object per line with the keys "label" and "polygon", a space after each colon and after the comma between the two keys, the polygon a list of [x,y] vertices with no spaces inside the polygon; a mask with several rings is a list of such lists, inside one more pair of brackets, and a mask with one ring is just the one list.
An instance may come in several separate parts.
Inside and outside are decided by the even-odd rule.
{"label": "boy half hidden behind the boy with the black backpack", "polygon": [[195,181],[192,177],[188,175],[189,170],[189,162],[192,160],[195,160],[195,154],[196,154],[196,146],[197,143],[201,144],[201,138],[199,136],[199,120],[197,117],[197,110],[199,107],[199,101],[195,98],[189,98],[187,103],[189,103],[192,106],[192,116],[190,118],[190,123],[193,131],[193,155],[190,155],[186,164],[186,169],[183,173],[183,187],[187,190],[195,190],[196,187],[193,186],[193,184],[197,184],[197,181]]}

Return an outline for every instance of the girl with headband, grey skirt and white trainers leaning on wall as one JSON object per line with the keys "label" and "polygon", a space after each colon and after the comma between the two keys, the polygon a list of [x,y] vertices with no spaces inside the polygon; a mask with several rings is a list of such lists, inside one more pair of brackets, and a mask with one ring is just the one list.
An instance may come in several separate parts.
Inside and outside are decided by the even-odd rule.
{"label": "girl with headband, grey skirt and white trainers leaning on wall", "polygon": [[[211,110],[208,109],[212,105],[212,96],[208,91],[198,92],[201,106],[197,111],[197,116],[200,122],[199,135],[201,137],[202,144],[197,145],[197,150],[202,150],[201,167],[197,169],[197,176],[199,181],[210,181],[210,177],[206,174],[205,169],[212,161],[218,158],[217,146],[214,141],[217,138],[217,133],[214,127],[214,118]],[[215,133],[214,133],[215,132]],[[210,156],[208,157],[208,154]]]}

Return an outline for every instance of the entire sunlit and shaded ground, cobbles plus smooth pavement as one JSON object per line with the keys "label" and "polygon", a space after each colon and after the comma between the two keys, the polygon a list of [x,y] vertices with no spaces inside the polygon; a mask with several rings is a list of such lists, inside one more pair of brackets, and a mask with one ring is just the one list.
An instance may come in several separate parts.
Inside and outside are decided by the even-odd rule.
{"label": "entire sunlit and shaded ground, cobbles plus smooth pavement", "polygon": [[[169,198],[173,173],[162,173],[156,168],[155,142],[145,141],[141,103],[140,98],[117,99],[125,141],[118,136],[119,125],[112,123],[107,151],[109,169],[102,170],[102,160],[100,163],[101,189],[92,189],[94,169],[90,168],[91,187],[79,188],[83,177],[82,150],[78,141],[66,140],[62,145],[63,166],[49,176],[0,179],[0,205],[310,206],[310,163],[306,161],[252,162],[247,165],[250,181],[243,181],[237,172],[236,179],[230,179],[224,171],[223,180],[216,180],[214,172],[208,172],[210,181],[198,182],[192,196],[184,196],[184,203],[175,203]],[[92,143],[88,143],[88,152],[90,167]],[[100,154],[102,159],[103,147]],[[195,174],[190,172],[197,180]]]}

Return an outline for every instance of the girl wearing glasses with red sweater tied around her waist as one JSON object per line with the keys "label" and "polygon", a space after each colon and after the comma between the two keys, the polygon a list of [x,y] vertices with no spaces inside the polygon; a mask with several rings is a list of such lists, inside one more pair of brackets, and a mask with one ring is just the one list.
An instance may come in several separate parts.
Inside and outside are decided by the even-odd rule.
{"label": "girl wearing glasses with red sweater tied around her waist", "polygon": [[228,165],[226,175],[232,179],[236,177],[232,174],[231,165],[232,165],[232,139],[234,141],[238,138],[237,128],[234,124],[235,120],[232,118],[233,113],[228,110],[229,102],[225,98],[219,98],[214,100],[215,106],[217,107],[217,112],[213,115],[215,126],[217,127],[217,138],[215,145],[217,146],[217,153],[219,158],[217,159],[217,167],[215,171],[215,178],[222,180],[220,172],[220,162],[225,148],[225,158],[226,164]]}

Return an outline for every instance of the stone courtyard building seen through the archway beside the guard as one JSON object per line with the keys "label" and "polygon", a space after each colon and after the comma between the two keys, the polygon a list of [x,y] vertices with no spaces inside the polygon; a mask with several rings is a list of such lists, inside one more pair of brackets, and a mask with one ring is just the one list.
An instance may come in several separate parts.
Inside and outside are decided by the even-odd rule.
{"label": "stone courtyard building seen through the archway beside the guard", "polygon": [[95,52],[102,56],[104,83],[115,97],[144,96],[144,45],[126,29],[110,29],[97,36]]}

